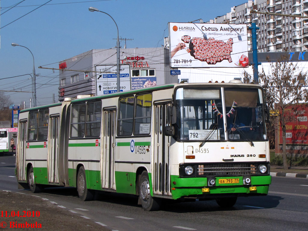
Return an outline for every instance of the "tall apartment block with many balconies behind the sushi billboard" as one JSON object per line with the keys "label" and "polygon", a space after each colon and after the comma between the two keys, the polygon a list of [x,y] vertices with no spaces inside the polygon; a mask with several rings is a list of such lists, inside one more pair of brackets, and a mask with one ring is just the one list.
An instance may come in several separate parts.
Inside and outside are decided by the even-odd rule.
{"label": "tall apartment block with many balconies behind the sushi billboard", "polygon": [[[231,8],[210,23],[256,23],[258,52],[307,51],[308,18],[280,15],[251,14],[251,10],[277,14],[308,16],[308,0],[255,0]],[[251,32],[248,30],[248,50],[252,50]]]}

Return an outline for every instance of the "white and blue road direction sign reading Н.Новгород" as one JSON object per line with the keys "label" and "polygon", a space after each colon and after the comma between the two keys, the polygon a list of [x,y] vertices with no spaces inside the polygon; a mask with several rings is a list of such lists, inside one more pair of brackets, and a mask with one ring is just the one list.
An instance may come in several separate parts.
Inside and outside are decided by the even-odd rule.
{"label": "white and blue road direction sign reading \u041d.\u041d\u043e\u0432\u0433\u043e\u0440\u043e\u0434", "polygon": [[[116,65],[96,65],[96,95],[107,95],[117,92],[117,67]],[[131,90],[129,65],[120,66],[120,91]]]}

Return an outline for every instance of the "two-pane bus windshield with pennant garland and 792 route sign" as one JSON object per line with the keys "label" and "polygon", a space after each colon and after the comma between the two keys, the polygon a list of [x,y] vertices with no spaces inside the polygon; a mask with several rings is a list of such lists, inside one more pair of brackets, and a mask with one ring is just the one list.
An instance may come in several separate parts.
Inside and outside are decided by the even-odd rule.
{"label": "two-pane bus windshield with pennant garland and 792 route sign", "polygon": [[175,104],[177,121],[174,127],[178,140],[266,139],[261,89],[178,88]]}

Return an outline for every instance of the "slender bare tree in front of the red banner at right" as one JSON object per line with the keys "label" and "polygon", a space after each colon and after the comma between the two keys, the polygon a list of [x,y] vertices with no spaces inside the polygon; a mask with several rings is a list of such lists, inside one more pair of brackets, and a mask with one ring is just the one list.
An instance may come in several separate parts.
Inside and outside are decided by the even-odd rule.
{"label": "slender bare tree in front of the red banner at right", "polygon": [[286,109],[294,107],[295,103],[307,102],[308,90],[302,84],[302,80],[306,79],[306,73],[299,70],[297,65],[288,62],[287,57],[281,57],[278,62],[270,62],[268,73],[262,69],[259,78],[266,91],[268,106],[278,111],[279,126],[282,128],[283,168],[287,170],[286,123],[290,121],[290,113]]}

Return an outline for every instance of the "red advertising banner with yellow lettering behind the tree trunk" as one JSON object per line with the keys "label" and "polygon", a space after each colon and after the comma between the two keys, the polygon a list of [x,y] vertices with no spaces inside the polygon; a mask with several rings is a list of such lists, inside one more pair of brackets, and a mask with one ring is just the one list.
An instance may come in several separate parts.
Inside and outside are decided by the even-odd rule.
{"label": "red advertising banner with yellow lettering behind the tree trunk", "polygon": [[[286,144],[308,144],[308,107],[294,104],[284,111],[286,123]],[[279,126],[279,144],[282,144],[282,128]]]}

